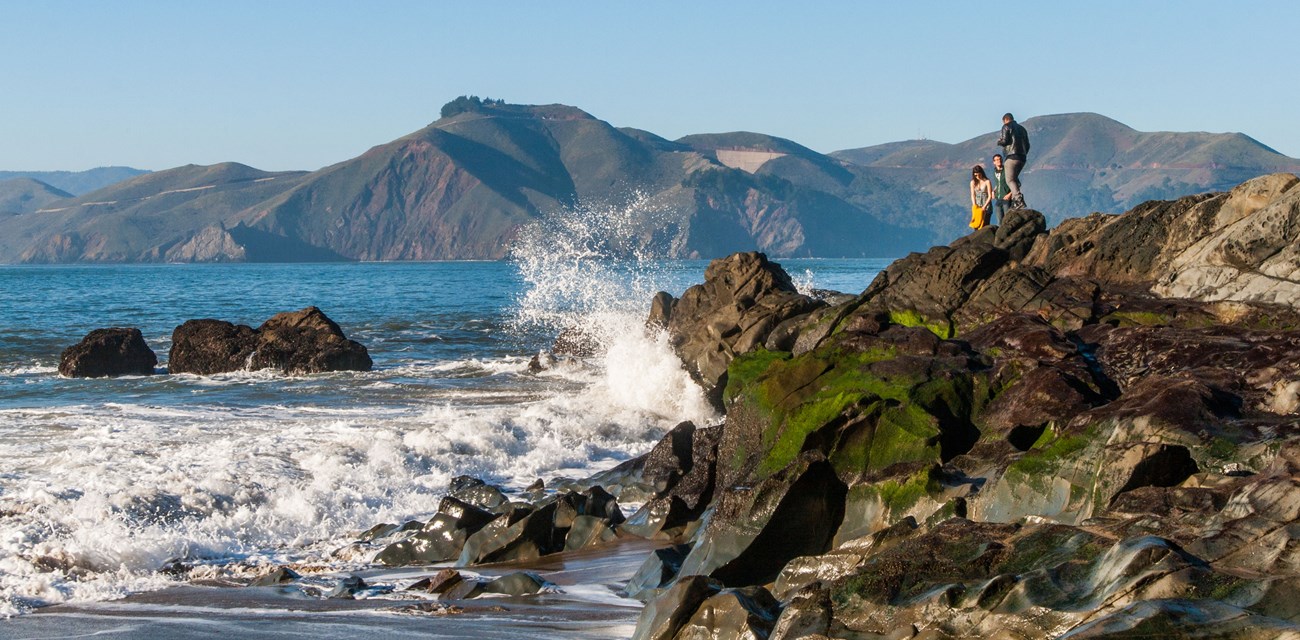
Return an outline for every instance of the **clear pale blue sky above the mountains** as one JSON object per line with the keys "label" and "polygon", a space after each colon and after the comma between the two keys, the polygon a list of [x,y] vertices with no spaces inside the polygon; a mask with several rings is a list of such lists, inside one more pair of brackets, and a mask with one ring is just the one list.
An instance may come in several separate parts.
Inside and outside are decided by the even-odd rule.
{"label": "clear pale blue sky above the mountains", "polygon": [[0,169],[316,169],[462,94],[822,152],[1091,111],[1300,156],[1296,25],[1290,0],[0,0]]}

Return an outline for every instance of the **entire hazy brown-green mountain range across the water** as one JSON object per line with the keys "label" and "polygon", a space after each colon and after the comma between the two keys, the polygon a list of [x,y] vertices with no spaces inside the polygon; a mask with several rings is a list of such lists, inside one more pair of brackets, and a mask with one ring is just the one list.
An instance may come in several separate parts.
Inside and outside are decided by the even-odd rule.
{"label": "entire hazy brown-green mountain range across the water", "polygon": [[[667,140],[566,105],[447,107],[419,131],[311,173],[127,169],[136,174],[81,194],[0,181],[0,261],[497,259],[525,225],[633,203],[624,251],[893,258],[963,233],[970,164],[996,138],[823,155],[755,133]],[[1140,133],[1091,113],[1024,125],[1026,194],[1056,220],[1300,170],[1240,134]]]}

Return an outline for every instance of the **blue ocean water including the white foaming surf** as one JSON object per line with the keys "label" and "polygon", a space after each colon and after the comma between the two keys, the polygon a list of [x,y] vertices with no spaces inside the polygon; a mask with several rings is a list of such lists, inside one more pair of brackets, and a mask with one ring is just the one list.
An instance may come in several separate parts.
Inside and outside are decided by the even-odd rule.
{"label": "blue ocean water including the white foaming surf", "polygon": [[[783,264],[801,289],[855,293],[887,263]],[[585,475],[716,420],[642,328],[650,297],[706,264],[552,235],[485,263],[0,265],[0,618],[274,563],[356,570],[358,532],[426,518],[456,475]],[[57,373],[95,328],[138,327],[165,373],[185,320],[256,327],[306,306],[374,371]],[[567,327],[603,351],[529,373]],[[190,568],[160,571],[174,562]]]}

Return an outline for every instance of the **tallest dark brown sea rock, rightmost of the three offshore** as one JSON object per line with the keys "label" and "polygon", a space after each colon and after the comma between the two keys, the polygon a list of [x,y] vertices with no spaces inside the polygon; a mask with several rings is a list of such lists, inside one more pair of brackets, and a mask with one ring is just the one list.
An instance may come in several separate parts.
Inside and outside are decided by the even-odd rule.
{"label": "tallest dark brown sea rock, rightmost of the three offshore", "polygon": [[370,371],[373,366],[365,347],[347,340],[338,324],[316,307],[277,313],[263,323],[248,364],[285,373]]}

